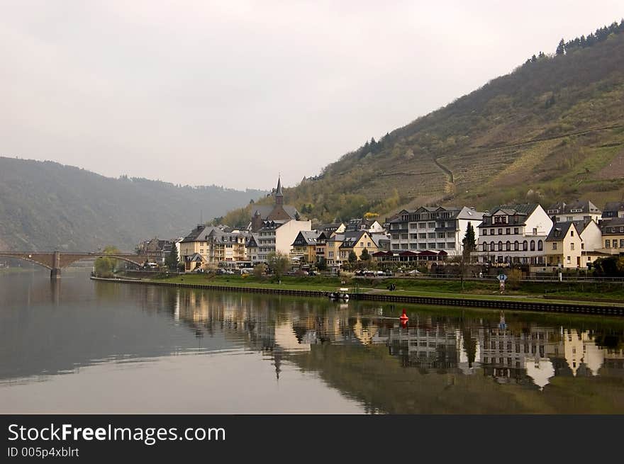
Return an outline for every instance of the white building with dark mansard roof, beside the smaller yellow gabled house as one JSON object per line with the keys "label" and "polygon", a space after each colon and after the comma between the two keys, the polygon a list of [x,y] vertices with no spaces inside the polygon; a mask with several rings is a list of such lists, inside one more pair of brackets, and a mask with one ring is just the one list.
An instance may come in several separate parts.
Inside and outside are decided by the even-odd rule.
{"label": "white building with dark mansard roof, beside the smaller yellow gabled house", "polygon": [[479,225],[479,261],[543,266],[551,229],[552,220],[537,203],[497,206],[483,215]]}

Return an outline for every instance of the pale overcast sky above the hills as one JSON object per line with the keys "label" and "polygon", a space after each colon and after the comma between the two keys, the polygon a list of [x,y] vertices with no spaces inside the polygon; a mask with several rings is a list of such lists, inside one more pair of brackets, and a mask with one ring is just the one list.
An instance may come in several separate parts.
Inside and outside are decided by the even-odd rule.
{"label": "pale overcast sky above the hills", "polygon": [[0,0],[0,156],[294,186],[621,0]]}

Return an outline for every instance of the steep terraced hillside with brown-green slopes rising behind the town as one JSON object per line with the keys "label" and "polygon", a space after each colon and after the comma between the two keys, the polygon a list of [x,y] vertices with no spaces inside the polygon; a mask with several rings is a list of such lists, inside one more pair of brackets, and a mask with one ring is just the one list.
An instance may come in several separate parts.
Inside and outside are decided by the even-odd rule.
{"label": "steep terraced hillside with brown-green slopes rising behind the town", "polygon": [[590,198],[602,207],[623,198],[623,144],[624,22],[552,44],[284,195],[322,221],[433,204]]}

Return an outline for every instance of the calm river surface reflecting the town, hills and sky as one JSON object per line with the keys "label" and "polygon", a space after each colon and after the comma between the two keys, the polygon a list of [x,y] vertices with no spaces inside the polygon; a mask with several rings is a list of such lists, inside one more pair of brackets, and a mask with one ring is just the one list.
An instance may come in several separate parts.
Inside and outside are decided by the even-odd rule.
{"label": "calm river surface reflecting the town, hills and sky", "polygon": [[14,274],[0,276],[0,412],[623,413],[623,332]]}

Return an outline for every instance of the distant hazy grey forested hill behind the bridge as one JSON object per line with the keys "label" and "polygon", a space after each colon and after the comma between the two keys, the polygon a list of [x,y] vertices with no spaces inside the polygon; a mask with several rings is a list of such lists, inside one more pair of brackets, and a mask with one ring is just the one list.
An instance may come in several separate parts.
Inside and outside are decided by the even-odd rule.
{"label": "distant hazy grey forested hill behind the bridge", "polygon": [[200,220],[265,192],[111,179],[54,162],[0,157],[0,250],[133,251],[140,240],[184,236]]}

